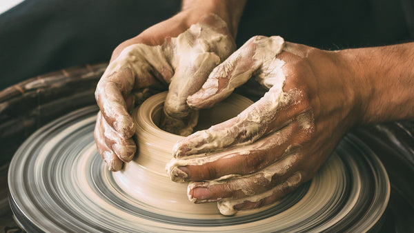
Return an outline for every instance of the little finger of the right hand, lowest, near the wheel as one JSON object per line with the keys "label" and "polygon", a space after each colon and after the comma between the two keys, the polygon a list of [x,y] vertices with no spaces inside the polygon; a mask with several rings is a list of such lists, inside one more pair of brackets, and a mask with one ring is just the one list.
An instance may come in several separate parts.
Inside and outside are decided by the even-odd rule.
{"label": "little finger of the right hand, lowest, near the wheel", "polygon": [[267,192],[255,196],[248,196],[243,199],[223,199],[217,202],[217,207],[221,214],[233,215],[239,210],[250,210],[270,205],[297,189],[297,187],[304,183],[304,181],[305,179],[302,172],[295,172],[295,174],[286,179],[286,181],[279,183],[275,188],[268,190]]}

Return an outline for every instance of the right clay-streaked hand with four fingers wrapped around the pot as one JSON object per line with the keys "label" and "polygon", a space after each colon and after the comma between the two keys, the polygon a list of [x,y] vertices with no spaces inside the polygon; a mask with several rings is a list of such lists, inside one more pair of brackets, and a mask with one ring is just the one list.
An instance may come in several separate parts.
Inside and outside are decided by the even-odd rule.
{"label": "right clay-streaked hand with four fingers wrapped around the pot", "polygon": [[222,214],[274,203],[310,180],[355,123],[353,79],[336,52],[253,37],[217,66],[192,108],[208,108],[254,78],[268,92],[237,117],[179,141],[167,165],[193,181],[194,203]]}

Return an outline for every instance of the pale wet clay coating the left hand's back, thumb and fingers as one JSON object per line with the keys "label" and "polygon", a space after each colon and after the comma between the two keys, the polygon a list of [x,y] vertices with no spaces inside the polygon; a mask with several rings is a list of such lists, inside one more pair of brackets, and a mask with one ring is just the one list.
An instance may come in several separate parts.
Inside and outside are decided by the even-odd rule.
{"label": "pale wet clay coating the left hand's back, thumb and fingers", "polygon": [[[133,130],[135,125],[123,107],[126,105],[125,97],[112,93],[119,91],[129,93],[132,88],[159,85],[160,81],[171,81],[173,85],[166,105],[185,109],[184,117],[181,119],[173,119],[169,114],[164,114],[164,130],[181,135],[188,135],[193,131],[193,127],[197,124],[198,114],[186,106],[186,97],[193,93],[182,93],[188,91],[188,88],[183,87],[195,86],[197,80],[190,79],[192,74],[210,72],[209,69],[213,69],[221,59],[225,59],[235,49],[231,38],[218,32],[226,28],[226,23],[217,15],[211,14],[206,18],[208,17],[210,20],[214,19],[213,26],[197,23],[179,34],[178,37],[166,39],[163,45],[150,46],[141,43],[130,45],[108,65],[99,81],[96,94],[98,103],[103,101],[103,112],[115,118],[113,126],[116,131],[105,130],[107,138],[115,139],[119,136],[128,138],[130,135],[126,132],[135,131]],[[119,105],[112,103],[119,103]],[[124,147],[117,149],[120,154],[126,154],[124,150],[130,150]],[[109,165],[116,164],[112,153],[103,154],[103,157]]]}

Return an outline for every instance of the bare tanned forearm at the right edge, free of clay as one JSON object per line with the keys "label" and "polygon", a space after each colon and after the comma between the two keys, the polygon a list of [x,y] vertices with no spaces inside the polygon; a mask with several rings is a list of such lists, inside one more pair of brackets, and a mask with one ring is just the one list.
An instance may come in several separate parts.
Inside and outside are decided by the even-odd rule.
{"label": "bare tanned forearm at the right edge, free of clay", "polygon": [[360,123],[414,119],[414,43],[339,53],[354,74]]}

